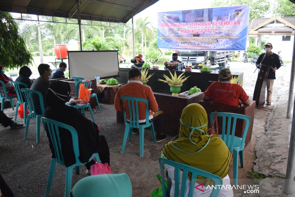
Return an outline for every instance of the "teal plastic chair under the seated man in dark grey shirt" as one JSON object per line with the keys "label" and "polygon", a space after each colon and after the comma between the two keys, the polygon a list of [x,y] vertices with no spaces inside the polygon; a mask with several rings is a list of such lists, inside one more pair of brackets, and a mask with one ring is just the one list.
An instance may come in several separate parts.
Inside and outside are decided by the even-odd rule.
{"label": "teal plastic chair under the seated man in dark grey shirt", "polygon": [[[24,132],[24,139],[27,139],[30,119],[31,118],[36,118],[37,143],[38,143],[39,140],[40,140],[40,120],[41,120],[41,117],[44,117],[43,97],[42,97],[42,94],[39,91],[34,90],[34,89],[23,88],[23,89],[21,89],[21,91],[24,94],[25,100],[27,102],[27,105],[28,105],[29,111],[30,111],[30,113],[28,114],[28,117],[27,117],[27,125],[26,125],[26,131]],[[41,114],[37,114],[35,112],[35,105],[34,105],[34,101],[32,99],[33,94],[36,94],[39,97],[40,108],[41,108],[41,112],[42,112]],[[44,123],[43,123],[43,127],[44,127],[44,130],[45,130]]]}

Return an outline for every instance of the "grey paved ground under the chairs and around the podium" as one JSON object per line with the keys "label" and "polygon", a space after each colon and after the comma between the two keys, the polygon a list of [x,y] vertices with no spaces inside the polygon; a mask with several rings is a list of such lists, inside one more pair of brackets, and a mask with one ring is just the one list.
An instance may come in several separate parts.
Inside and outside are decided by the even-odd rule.
{"label": "grey paved ground under the chairs and around the podium", "polygon": [[[288,65],[289,66],[289,65]],[[251,142],[244,149],[244,168],[239,167],[238,185],[255,185],[250,178],[250,170],[265,175],[284,175],[289,145],[291,119],[286,119],[286,101],[288,99],[288,84],[290,67],[282,67],[277,73],[274,84],[272,105],[273,111],[255,110],[255,120]],[[255,66],[250,63],[230,62],[232,71],[244,72],[243,88],[253,97],[257,78]],[[293,105],[292,105],[293,106]],[[113,105],[101,105],[101,113],[94,113],[96,122],[101,127],[101,134],[106,136],[110,147],[111,168],[113,173],[126,172],[132,182],[132,196],[148,197],[149,193],[160,183],[156,174],[160,172],[158,158],[164,144],[171,140],[154,144],[149,131],[145,132],[144,157],[139,157],[138,135],[126,144],[124,154],[119,154],[122,146],[124,125],[116,122],[116,112]],[[4,110],[7,115],[14,116],[11,108]],[[90,118],[89,114],[86,114]],[[18,121],[22,121],[18,118]],[[11,187],[15,196],[43,196],[45,193],[49,166],[50,149],[48,139],[43,130],[40,142],[36,143],[35,120],[31,120],[28,137],[24,137],[25,128],[10,129],[0,127],[0,173]],[[288,139],[288,140],[287,140]],[[72,185],[86,177],[85,167],[80,168],[80,174],[73,174]],[[232,178],[232,166],[229,176]],[[50,196],[63,196],[65,170],[57,165]],[[234,190],[235,196],[284,196],[280,193],[284,179],[266,178],[260,182],[259,194],[247,194],[246,189]],[[273,188],[275,191],[270,191]],[[249,191],[250,192],[250,191]],[[293,195],[294,196],[294,195]]]}

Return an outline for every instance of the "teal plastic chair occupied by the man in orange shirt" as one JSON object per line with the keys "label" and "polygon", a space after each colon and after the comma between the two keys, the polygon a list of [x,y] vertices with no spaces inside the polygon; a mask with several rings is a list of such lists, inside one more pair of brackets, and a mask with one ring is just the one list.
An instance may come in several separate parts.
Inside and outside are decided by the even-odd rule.
{"label": "teal plastic chair occupied by the man in orange shirt", "polygon": [[[130,121],[126,120],[126,114],[125,114],[125,108],[123,105],[123,100],[127,100],[128,102],[128,108],[129,108],[129,114],[130,114]],[[139,129],[139,149],[140,149],[140,157],[143,157],[143,141],[144,141],[144,131],[146,127],[150,127],[150,130],[153,135],[153,139],[155,144],[157,144],[155,131],[154,131],[154,125],[153,122],[149,121],[149,113],[150,113],[150,105],[149,101],[147,99],[138,98],[138,97],[120,97],[120,101],[123,107],[123,114],[124,114],[124,124],[125,124],[125,132],[124,132],[124,138],[123,138],[123,144],[121,149],[121,154],[124,153],[125,145],[128,139],[131,139],[131,133],[132,128],[138,128]],[[146,103],[146,112],[145,112],[145,124],[139,124],[138,122],[138,102],[145,102]],[[131,103],[131,105],[130,105]],[[135,115],[136,112],[136,115]]]}

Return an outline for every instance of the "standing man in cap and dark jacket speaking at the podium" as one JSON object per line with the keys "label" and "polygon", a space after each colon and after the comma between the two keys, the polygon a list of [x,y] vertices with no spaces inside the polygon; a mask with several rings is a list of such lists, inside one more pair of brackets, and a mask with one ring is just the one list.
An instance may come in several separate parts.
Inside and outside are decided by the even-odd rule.
{"label": "standing man in cap and dark jacket speaking at the podium", "polygon": [[272,67],[272,70],[269,71],[266,80],[266,105],[271,105],[271,95],[273,94],[273,80],[276,79],[276,69],[279,69],[281,67],[280,58],[276,53],[273,53],[271,51],[272,49],[273,45],[271,43],[267,43],[265,45],[265,53],[262,53],[256,61],[256,66],[257,64],[261,63],[262,65]]}

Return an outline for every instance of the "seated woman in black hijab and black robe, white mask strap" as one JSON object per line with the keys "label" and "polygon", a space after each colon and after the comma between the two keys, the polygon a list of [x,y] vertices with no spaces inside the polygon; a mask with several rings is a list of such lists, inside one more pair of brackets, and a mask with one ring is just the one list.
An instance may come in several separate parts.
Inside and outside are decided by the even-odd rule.
{"label": "seated woman in black hijab and black robe, white mask strap", "polygon": [[[59,121],[76,129],[80,149],[79,159],[81,162],[88,162],[92,154],[97,152],[101,163],[110,164],[109,146],[105,137],[103,135],[99,135],[98,126],[87,119],[85,115],[83,115],[83,113],[76,108],[65,105],[65,102],[68,102],[71,98],[69,97],[70,92],[70,84],[67,82],[56,81],[50,84],[45,98],[48,105],[48,108],[46,108],[44,113],[45,118]],[[73,152],[71,133],[63,128],[60,128],[59,132],[65,166],[68,167],[76,162]],[[52,157],[54,158],[54,149],[47,129],[46,133],[49,139]],[[85,164],[87,174],[90,174],[90,166],[93,164],[95,164],[93,160]]]}

